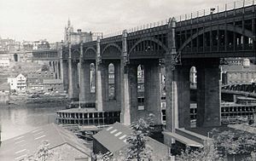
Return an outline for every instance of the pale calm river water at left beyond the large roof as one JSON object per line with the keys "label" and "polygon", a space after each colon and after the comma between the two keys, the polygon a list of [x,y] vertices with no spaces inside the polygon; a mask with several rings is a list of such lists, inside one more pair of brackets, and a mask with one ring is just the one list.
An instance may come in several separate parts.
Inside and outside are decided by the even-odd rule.
{"label": "pale calm river water at left beyond the large roof", "polygon": [[22,135],[44,124],[55,123],[55,112],[64,108],[64,105],[47,103],[0,105],[1,140]]}

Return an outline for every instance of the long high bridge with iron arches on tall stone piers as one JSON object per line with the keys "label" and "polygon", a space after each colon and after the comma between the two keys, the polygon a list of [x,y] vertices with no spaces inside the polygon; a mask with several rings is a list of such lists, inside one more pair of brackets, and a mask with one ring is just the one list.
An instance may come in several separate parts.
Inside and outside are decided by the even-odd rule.
{"label": "long high bridge with iron arches on tall stone piers", "polygon": [[[256,55],[255,9],[255,1],[241,1],[232,9],[225,5],[223,11],[211,9],[209,14],[191,14],[185,20],[172,18],[159,26],[133,28],[113,37],[63,46],[61,78],[71,99],[96,102],[99,111],[119,109],[124,124],[148,113],[154,113],[156,124],[160,124],[161,64],[166,67],[166,129],[173,131],[190,126],[189,70],[195,66],[196,124],[219,125],[218,66],[226,57]],[[138,66],[144,71],[143,108],[138,101]],[[92,80],[93,75],[96,80]]]}

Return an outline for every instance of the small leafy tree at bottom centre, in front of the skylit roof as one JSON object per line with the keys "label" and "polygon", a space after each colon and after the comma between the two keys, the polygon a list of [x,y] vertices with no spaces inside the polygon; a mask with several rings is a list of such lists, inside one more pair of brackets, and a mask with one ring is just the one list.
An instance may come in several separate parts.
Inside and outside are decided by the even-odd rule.
{"label": "small leafy tree at bottom centre, in front of the skylit roof", "polygon": [[131,124],[131,135],[127,137],[126,141],[129,143],[127,148],[127,159],[135,159],[137,161],[142,160],[143,158],[150,159],[152,156],[152,148],[147,146],[148,135],[152,125],[154,123],[154,115],[149,114],[147,120],[139,118],[136,122]]}

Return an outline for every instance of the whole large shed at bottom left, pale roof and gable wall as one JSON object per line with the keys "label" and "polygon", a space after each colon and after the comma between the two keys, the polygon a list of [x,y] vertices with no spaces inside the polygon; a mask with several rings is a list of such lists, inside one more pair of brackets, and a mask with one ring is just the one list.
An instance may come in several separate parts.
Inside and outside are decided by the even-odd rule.
{"label": "whole large shed at bottom left, pale roof and gable wall", "polygon": [[0,147],[1,160],[21,161],[38,152],[42,143],[47,141],[46,147],[51,153],[49,160],[62,161],[91,161],[90,148],[73,132],[55,124],[47,124],[26,134],[2,141]]}

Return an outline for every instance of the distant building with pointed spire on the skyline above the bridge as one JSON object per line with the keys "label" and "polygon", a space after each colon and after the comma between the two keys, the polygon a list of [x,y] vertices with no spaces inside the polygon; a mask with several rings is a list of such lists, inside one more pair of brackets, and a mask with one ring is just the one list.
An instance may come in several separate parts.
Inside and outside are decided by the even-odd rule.
{"label": "distant building with pointed spire on the skyline above the bridge", "polygon": [[77,44],[80,42],[90,42],[92,41],[91,32],[82,32],[81,29],[78,29],[78,32],[73,31],[73,26],[71,26],[70,20],[67,21],[67,26],[64,31],[64,43]]}

